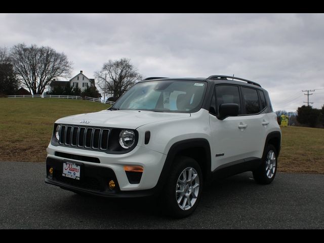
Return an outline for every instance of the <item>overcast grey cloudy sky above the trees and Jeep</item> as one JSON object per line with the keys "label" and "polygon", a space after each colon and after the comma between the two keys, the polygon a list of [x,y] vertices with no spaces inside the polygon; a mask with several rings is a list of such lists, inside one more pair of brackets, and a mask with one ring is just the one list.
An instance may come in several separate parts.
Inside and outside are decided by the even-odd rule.
{"label": "overcast grey cloudy sky above the trees and Jeep", "polygon": [[89,78],[130,58],[143,76],[233,75],[295,111],[324,104],[323,14],[0,14],[0,47],[51,46]]}

